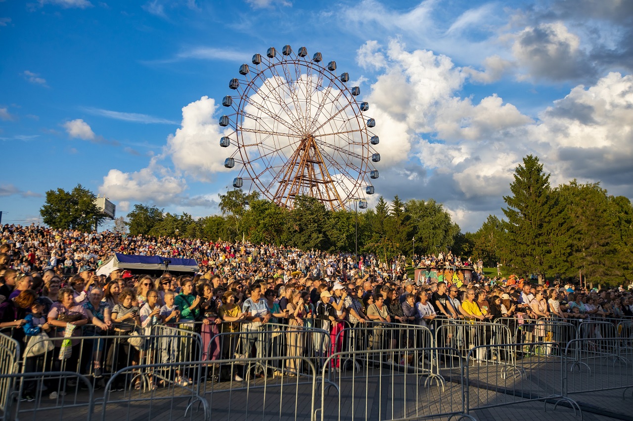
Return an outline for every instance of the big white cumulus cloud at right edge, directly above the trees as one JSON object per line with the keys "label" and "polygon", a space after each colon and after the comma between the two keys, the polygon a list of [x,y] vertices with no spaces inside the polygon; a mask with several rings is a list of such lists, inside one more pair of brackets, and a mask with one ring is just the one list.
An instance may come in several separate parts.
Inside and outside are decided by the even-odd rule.
{"label": "big white cumulus cloud at right edge, directly above the trees", "polygon": [[[554,145],[551,159],[563,182],[572,177],[626,186],[633,195],[633,76],[609,73],[578,85],[541,113],[532,136]],[[553,163],[554,163],[553,162]]]}

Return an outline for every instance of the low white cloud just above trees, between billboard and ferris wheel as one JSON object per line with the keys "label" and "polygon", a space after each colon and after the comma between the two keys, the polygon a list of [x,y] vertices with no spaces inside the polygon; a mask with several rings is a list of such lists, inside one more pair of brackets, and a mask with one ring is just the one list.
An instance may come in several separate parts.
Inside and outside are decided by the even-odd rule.
{"label": "low white cloud just above trees, between billboard and ferris wheel", "polygon": [[169,169],[156,164],[153,158],[147,166],[133,173],[111,169],[99,186],[99,193],[111,200],[152,203],[160,206],[175,205],[182,200],[187,189],[186,181]]}

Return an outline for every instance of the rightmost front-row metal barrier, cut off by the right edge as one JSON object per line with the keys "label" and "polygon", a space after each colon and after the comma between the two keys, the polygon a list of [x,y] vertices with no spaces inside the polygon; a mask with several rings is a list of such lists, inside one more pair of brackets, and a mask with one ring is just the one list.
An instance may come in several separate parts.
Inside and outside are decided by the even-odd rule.
{"label": "rightmost front-row metal barrier, cut off by the right edge", "polygon": [[611,389],[625,389],[626,394],[633,387],[633,349],[625,338],[575,339],[567,355],[567,394]]}

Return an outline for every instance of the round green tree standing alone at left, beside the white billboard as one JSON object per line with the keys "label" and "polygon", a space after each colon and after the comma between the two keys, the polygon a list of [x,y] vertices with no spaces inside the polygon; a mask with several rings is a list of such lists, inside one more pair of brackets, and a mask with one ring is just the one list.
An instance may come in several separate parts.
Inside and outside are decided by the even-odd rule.
{"label": "round green tree standing alone at left, beside the white billboard", "polygon": [[78,184],[71,192],[63,188],[48,190],[46,201],[40,209],[44,224],[54,229],[79,229],[92,231],[102,223],[106,215],[94,203],[97,196]]}

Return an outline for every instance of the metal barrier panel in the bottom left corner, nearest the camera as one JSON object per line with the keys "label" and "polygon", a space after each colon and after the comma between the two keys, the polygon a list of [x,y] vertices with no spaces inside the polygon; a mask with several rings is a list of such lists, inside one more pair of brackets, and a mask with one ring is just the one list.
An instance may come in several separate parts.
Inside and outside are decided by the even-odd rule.
{"label": "metal barrier panel in the bottom left corner, nearest the camera", "polygon": [[[94,393],[85,375],[70,371],[0,374],[0,380],[4,379],[15,385],[4,420],[92,419]],[[51,391],[54,396],[49,395]],[[28,400],[21,399],[27,396]]]}

